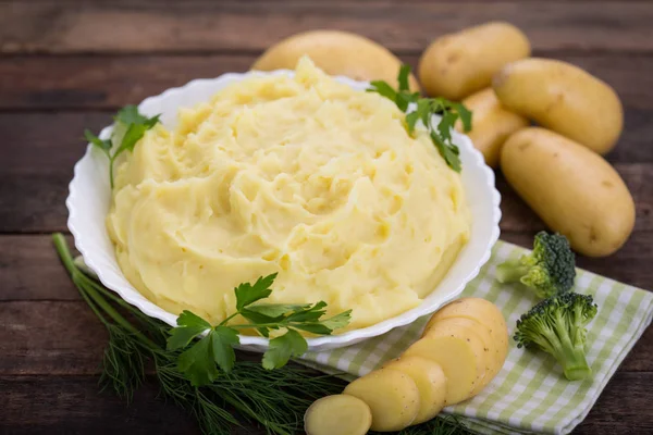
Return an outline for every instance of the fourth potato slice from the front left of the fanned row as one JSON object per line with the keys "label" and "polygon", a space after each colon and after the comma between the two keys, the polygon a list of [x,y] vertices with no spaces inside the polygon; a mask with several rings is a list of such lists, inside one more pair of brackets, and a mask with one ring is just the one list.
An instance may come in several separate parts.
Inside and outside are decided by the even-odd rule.
{"label": "fourth potato slice from the front left of the fanned row", "polygon": [[445,406],[455,405],[471,397],[484,371],[479,372],[478,355],[482,344],[468,341],[451,335],[428,335],[417,340],[404,352],[404,357],[421,357],[434,361],[446,376]]}

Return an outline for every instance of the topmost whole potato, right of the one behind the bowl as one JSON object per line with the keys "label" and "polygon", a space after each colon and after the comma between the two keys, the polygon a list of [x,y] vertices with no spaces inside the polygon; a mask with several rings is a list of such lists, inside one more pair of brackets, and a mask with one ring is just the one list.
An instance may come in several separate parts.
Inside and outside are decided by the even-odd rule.
{"label": "topmost whole potato, right of the one behind the bowl", "polygon": [[419,79],[430,96],[460,100],[490,86],[505,64],[529,55],[521,30],[488,23],[435,39],[419,60]]}

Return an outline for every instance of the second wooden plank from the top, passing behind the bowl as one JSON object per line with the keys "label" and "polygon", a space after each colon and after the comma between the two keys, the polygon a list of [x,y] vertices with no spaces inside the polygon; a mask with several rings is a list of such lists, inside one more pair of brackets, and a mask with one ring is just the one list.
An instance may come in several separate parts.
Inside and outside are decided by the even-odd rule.
{"label": "second wooden plank from the top, passing behind the bowl", "polygon": [[[552,55],[611,84],[628,110],[653,109],[653,75],[642,73],[653,71],[653,55]],[[245,72],[255,59],[255,54],[0,58],[0,110],[115,109],[194,78]],[[414,69],[418,59],[402,55]],[[627,121],[633,122],[628,116]]]}

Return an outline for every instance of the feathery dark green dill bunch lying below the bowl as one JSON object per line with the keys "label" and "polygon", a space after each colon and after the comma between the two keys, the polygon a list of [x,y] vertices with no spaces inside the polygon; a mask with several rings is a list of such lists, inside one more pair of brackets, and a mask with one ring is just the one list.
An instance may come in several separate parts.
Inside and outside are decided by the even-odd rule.
{"label": "feathery dark green dill bunch lying below the bowl", "polygon": [[[62,234],[54,246],[82,298],[109,332],[102,360],[102,389],[130,400],[145,382],[148,364],[155,369],[160,396],[197,420],[207,435],[229,434],[234,426],[258,426],[267,434],[301,433],[304,413],[318,398],[342,393],[345,382],[316,374],[289,363],[267,370],[260,362],[237,360],[229,373],[220,372],[210,384],[194,386],[180,371],[183,349],[168,350],[171,327],[132,307],[75,263]],[[127,313],[125,318],[120,311]],[[456,419],[438,418],[408,427],[401,435],[467,434]]]}

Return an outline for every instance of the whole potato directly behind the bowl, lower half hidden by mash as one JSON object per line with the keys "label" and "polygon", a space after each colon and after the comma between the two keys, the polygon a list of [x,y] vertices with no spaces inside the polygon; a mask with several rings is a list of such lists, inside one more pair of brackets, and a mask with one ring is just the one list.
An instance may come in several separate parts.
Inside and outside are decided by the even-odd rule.
{"label": "whole potato directly behind the bowl, lower half hidden by mash", "polygon": [[[364,36],[340,30],[312,30],[293,35],[270,47],[251,70],[294,70],[308,55],[326,74],[345,75],[357,80],[385,80],[396,87],[399,61],[386,48]],[[419,90],[409,77],[410,89]]]}

